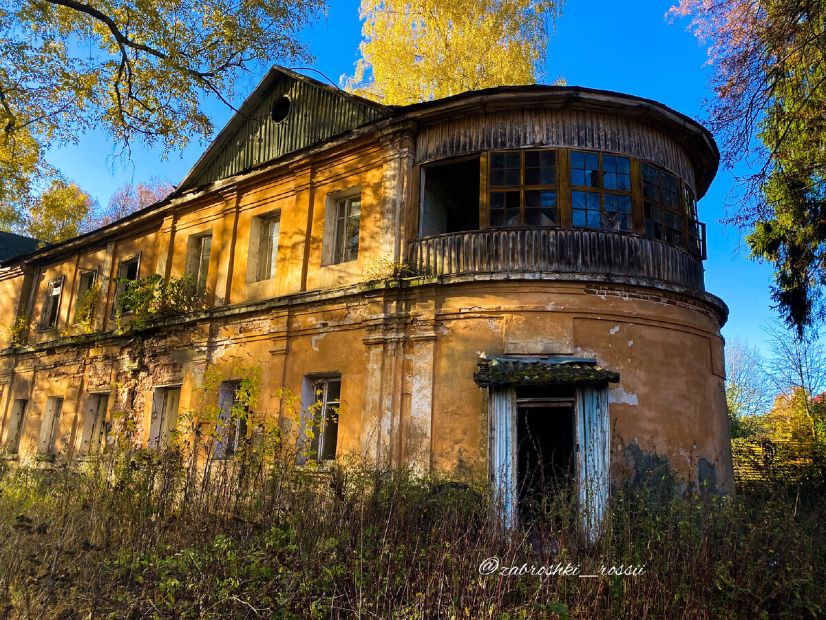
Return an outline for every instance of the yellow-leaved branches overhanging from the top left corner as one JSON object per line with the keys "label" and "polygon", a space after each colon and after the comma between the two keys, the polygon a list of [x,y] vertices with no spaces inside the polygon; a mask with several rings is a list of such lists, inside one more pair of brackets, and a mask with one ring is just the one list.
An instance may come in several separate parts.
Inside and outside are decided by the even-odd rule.
{"label": "yellow-leaved branches overhanging from the top left corner", "polygon": [[164,154],[214,127],[207,96],[273,61],[309,60],[299,32],[323,0],[10,0],[0,8],[0,226],[51,174],[41,153],[104,131]]}

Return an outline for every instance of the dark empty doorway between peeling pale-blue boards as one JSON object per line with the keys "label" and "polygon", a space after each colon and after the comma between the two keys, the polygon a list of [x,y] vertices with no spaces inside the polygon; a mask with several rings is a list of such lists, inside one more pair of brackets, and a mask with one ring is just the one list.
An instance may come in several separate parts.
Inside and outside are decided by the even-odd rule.
{"label": "dark empty doorway between peeling pale-blue boards", "polygon": [[544,498],[572,489],[572,386],[517,390],[517,471],[520,518],[539,516]]}

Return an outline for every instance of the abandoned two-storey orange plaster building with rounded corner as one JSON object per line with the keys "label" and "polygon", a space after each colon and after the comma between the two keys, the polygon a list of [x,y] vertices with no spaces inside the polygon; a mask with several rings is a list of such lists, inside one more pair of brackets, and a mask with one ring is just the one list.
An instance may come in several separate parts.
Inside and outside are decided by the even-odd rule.
{"label": "abandoned two-storey orange plaster building with rounded corner", "polygon": [[[241,356],[250,419],[283,415],[281,388],[338,413],[319,461],[487,476],[511,512],[539,462],[596,513],[653,455],[731,489],[696,209],[718,163],[704,127],[620,93],[385,107],[274,68],[169,198],[0,264],[6,458],[97,451],[114,411],[164,446],[207,365],[232,400]],[[185,273],[203,308],[136,337],[128,281]]]}

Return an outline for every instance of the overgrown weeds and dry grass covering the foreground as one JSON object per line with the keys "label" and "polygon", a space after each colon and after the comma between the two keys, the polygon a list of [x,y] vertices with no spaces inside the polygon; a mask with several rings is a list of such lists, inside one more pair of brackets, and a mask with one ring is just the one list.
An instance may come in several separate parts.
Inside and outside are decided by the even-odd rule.
{"label": "overgrown weeds and dry grass covering the foreground", "polygon": [[[503,532],[487,494],[354,462],[192,468],[176,451],[0,474],[2,618],[815,618],[823,505],[564,494]],[[480,574],[484,560],[489,575]],[[523,565],[525,568],[523,569]],[[577,575],[532,575],[540,566]],[[638,575],[603,575],[611,566]],[[558,568],[561,567],[561,568]],[[592,575],[596,577],[580,577]]]}

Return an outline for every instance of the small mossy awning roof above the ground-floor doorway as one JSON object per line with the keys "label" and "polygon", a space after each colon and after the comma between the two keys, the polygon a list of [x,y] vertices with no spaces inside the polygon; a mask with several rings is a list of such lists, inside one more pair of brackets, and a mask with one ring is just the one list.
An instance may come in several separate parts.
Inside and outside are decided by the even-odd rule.
{"label": "small mossy awning roof above the ground-floor doorway", "polygon": [[496,385],[615,384],[619,373],[580,358],[488,357],[473,380],[480,388]]}

